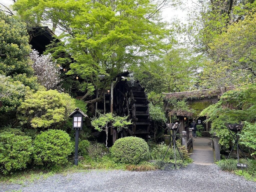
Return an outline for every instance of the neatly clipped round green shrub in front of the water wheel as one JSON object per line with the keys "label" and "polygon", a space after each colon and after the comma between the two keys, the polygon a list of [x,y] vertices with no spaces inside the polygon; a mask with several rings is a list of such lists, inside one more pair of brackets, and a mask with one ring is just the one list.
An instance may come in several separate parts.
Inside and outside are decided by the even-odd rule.
{"label": "neatly clipped round green shrub in front of the water wheel", "polygon": [[148,157],[149,147],[142,138],[124,137],[115,141],[110,153],[115,161],[137,164]]}

